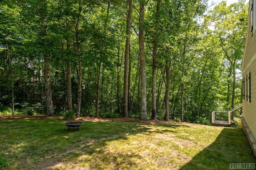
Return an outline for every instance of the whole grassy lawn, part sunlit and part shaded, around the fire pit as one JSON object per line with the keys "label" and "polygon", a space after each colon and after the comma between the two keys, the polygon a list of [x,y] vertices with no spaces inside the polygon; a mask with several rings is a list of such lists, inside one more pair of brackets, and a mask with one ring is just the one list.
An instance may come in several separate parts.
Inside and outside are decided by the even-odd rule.
{"label": "whole grassy lawn, part sunlit and part shaded, around the fire pit", "polygon": [[0,119],[4,168],[209,170],[256,162],[238,128],[93,120],[68,132],[61,119]]}

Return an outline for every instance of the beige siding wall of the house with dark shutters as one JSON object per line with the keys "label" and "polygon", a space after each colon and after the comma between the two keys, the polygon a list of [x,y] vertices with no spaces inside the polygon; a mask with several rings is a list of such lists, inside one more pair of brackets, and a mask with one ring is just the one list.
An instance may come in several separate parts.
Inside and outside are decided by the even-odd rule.
{"label": "beige siding wall of the house with dark shutters", "polygon": [[[254,0],[254,3],[256,4],[256,0]],[[251,9],[252,0],[249,2],[248,29],[242,64],[244,79],[243,117],[252,134],[256,137],[256,28],[252,28],[252,21],[256,23],[256,18],[251,14],[253,12]],[[256,11],[256,8],[254,10]],[[250,80],[249,74],[251,75]],[[246,77],[248,77],[247,81]]]}

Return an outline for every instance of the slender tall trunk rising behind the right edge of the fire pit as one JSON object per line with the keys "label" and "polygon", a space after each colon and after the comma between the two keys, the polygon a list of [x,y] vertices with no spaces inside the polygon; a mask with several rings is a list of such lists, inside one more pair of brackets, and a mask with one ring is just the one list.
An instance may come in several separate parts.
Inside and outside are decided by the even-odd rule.
{"label": "slender tall trunk rising behind the right edge of the fire pit", "polygon": [[80,56],[80,40],[79,40],[79,33],[78,27],[80,24],[80,15],[81,15],[81,0],[79,0],[79,9],[78,9],[78,19],[76,22],[76,54],[78,55],[78,93],[77,93],[77,108],[76,108],[76,117],[80,117],[80,108],[81,108],[81,100],[82,100],[82,61]]}

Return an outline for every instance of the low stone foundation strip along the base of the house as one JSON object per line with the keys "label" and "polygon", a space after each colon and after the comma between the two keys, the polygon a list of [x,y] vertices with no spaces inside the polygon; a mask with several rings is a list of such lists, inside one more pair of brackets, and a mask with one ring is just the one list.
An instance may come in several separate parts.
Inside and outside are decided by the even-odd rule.
{"label": "low stone foundation strip along the base of the house", "polygon": [[248,138],[248,141],[252,147],[252,151],[254,153],[254,156],[256,156],[256,139],[254,135],[252,134],[252,131],[250,130],[249,126],[247,125],[245,119],[243,116],[240,116],[241,119],[241,127],[244,133],[246,134],[246,137]]}

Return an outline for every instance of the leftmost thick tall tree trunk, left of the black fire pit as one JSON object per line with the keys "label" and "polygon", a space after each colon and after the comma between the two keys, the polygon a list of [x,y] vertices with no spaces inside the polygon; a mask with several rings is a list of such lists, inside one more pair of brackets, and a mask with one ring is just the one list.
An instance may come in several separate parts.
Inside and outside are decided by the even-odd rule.
{"label": "leftmost thick tall tree trunk, left of the black fire pit", "polygon": [[45,0],[41,1],[41,32],[42,32],[42,45],[44,46],[43,57],[44,57],[44,83],[45,83],[45,93],[46,93],[46,115],[53,115],[53,104],[52,104],[52,92],[51,92],[51,81],[50,81],[50,61],[49,54],[47,49],[47,42],[44,39],[46,36],[46,12],[47,12],[47,4]]}

